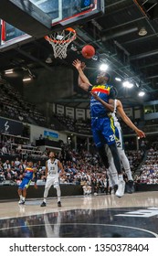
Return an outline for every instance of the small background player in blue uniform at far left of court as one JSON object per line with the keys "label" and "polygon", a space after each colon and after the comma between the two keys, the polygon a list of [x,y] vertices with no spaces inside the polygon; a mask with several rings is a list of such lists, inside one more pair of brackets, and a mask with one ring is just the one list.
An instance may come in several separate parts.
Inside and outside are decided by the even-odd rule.
{"label": "small background player in blue uniform at far left of court", "polygon": [[18,187],[19,205],[24,205],[26,201],[26,189],[29,187],[32,179],[35,179],[35,188],[37,188],[37,169],[33,168],[33,162],[28,162],[24,172],[22,183]]}

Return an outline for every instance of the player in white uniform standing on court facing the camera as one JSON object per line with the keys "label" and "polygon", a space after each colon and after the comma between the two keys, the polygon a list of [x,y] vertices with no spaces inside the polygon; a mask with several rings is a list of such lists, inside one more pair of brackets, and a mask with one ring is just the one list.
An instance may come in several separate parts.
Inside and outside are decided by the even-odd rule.
{"label": "player in white uniform standing on court facing the camera", "polygon": [[46,185],[45,185],[45,191],[44,191],[44,199],[41,204],[41,207],[46,207],[46,201],[47,201],[47,195],[48,190],[51,186],[54,186],[57,189],[57,196],[58,196],[58,207],[61,207],[60,197],[61,197],[61,190],[59,187],[59,172],[61,171],[61,174],[64,173],[64,169],[62,164],[58,159],[55,158],[54,152],[49,153],[49,159],[46,162]]}

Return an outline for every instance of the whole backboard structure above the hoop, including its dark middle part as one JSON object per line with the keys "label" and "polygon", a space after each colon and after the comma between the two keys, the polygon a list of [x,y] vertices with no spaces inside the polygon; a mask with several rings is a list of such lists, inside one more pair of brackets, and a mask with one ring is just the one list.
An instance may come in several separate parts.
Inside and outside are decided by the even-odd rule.
{"label": "whole backboard structure above the hoop, including its dark middle part", "polygon": [[[6,9],[3,2],[8,3]],[[14,13],[13,6],[16,17],[7,15],[9,11]],[[84,23],[103,12],[104,0],[3,0],[0,2],[0,51]]]}

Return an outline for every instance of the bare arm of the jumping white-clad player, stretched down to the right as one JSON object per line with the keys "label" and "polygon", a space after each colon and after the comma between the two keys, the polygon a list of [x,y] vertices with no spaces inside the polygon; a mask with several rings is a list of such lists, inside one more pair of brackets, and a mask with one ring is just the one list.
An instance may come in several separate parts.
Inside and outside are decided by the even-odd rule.
{"label": "bare arm of the jumping white-clad player, stretched down to the right", "polygon": [[137,133],[137,135],[140,138],[145,137],[145,133],[142,132],[142,130],[138,129],[134,123],[132,123],[131,119],[126,115],[126,113],[123,110],[121,101],[118,100],[118,105],[117,105],[117,111],[119,112],[121,119],[124,121],[124,123],[126,123],[129,127],[132,128],[132,130]]}

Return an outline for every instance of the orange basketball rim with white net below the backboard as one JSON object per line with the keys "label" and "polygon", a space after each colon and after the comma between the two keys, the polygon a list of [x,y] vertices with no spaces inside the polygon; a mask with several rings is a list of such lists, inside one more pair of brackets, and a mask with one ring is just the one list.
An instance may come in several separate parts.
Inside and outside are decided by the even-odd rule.
{"label": "orange basketball rim with white net below the backboard", "polygon": [[68,45],[76,39],[76,31],[68,27],[62,31],[54,32],[45,39],[51,44],[54,50],[54,57],[65,59],[67,57]]}

